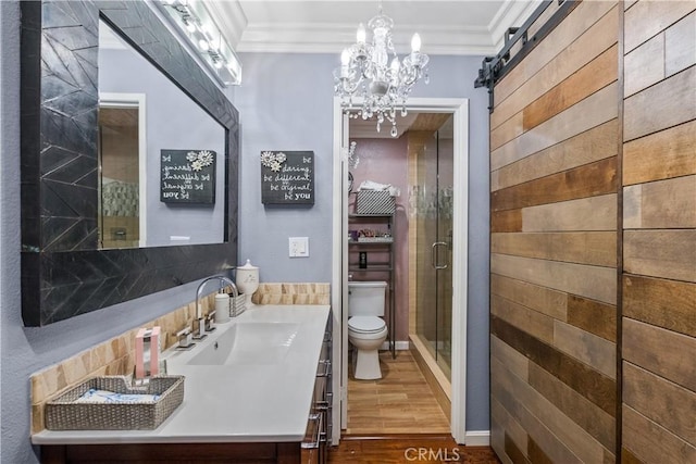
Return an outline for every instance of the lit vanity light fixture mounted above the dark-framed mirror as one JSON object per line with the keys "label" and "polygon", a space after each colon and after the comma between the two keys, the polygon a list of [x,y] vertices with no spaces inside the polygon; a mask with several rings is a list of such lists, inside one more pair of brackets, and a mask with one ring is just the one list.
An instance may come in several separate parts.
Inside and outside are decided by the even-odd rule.
{"label": "lit vanity light fixture mounted above the dark-framed mirror", "polygon": [[223,85],[241,84],[241,63],[202,1],[164,0],[156,4]]}

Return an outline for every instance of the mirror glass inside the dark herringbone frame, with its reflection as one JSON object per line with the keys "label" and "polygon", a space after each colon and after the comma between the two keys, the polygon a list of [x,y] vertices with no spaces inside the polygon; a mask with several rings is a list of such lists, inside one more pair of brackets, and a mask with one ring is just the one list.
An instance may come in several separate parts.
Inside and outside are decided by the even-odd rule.
{"label": "mirror glass inside the dark herringbone frame, with its reflection", "polygon": [[[127,118],[128,100],[144,96],[136,105],[139,130],[100,133],[102,143],[113,136],[108,150],[100,146],[100,248],[224,242],[225,128],[102,21],[99,36],[100,124],[115,114]],[[163,164],[172,150],[215,153],[215,164],[207,173],[185,161],[173,173]],[[126,174],[126,165],[138,171]],[[175,188],[177,201],[164,199],[163,188]]]}

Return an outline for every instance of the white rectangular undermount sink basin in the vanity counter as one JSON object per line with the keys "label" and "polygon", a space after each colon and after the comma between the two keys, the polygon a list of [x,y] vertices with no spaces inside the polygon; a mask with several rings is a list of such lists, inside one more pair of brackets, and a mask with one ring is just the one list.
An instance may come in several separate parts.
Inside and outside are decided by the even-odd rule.
{"label": "white rectangular undermount sink basin in the vanity counter", "polygon": [[204,342],[186,364],[279,364],[298,328],[296,323],[237,323],[214,341]]}

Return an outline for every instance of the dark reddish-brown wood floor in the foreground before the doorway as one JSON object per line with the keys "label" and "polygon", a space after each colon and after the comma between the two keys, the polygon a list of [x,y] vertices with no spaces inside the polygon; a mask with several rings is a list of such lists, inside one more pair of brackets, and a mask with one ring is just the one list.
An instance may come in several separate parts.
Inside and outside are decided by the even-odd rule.
{"label": "dark reddish-brown wood floor in the foreground before the doorway", "polygon": [[463,447],[449,435],[344,437],[328,452],[330,464],[500,464],[490,447]]}

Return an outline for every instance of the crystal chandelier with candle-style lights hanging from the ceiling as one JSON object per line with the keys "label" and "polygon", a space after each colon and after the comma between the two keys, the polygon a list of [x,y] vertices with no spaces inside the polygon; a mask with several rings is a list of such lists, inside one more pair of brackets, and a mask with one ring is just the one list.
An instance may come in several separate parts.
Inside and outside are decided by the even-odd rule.
{"label": "crystal chandelier with candle-style lights hanging from the ceiling", "polygon": [[[334,89],[350,117],[375,116],[377,131],[386,120],[391,123],[391,137],[396,137],[397,108],[401,106],[401,116],[406,116],[406,99],[413,85],[421,77],[427,84],[428,59],[421,53],[421,37],[413,34],[411,53],[399,61],[391,41],[393,26],[394,21],[382,13],[380,3],[380,13],[368,23],[372,43],[366,42],[365,27],[360,24],[357,43],[343,51],[340,67],[334,71]],[[389,54],[394,55],[390,63]],[[362,104],[353,105],[353,97],[361,97]]]}

